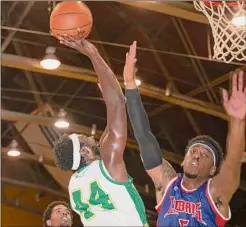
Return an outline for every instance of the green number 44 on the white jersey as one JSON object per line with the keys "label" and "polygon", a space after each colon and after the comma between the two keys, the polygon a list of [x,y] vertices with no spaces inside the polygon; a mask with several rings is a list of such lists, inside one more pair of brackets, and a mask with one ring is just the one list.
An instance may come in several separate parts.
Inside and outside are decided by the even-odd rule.
{"label": "green number 44 on the white jersey", "polygon": [[105,210],[114,210],[115,206],[109,195],[103,191],[96,181],[90,184],[90,199],[88,203],[83,201],[81,190],[72,192],[72,198],[75,203],[75,210],[84,215],[85,219],[94,217],[94,213],[90,210],[90,205],[99,206]]}

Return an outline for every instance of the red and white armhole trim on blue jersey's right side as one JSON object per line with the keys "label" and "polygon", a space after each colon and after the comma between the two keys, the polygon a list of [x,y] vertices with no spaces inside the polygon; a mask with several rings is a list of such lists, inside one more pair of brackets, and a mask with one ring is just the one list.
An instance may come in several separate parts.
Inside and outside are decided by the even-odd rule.
{"label": "red and white armhole trim on blue jersey's right side", "polygon": [[219,212],[219,210],[216,207],[216,205],[215,205],[215,203],[214,203],[214,201],[212,199],[212,196],[210,194],[210,190],[209,190],[210,181],[211,181],[211,179],[208,180],[208,184],[207,184],[207,188],[206,188],[206,197],[208,199],[210,207],[212,208],[212,210],[214,211],[214,213],[216,215],[216,218],[215,218],[216,225],[218,227],[224,227],[226,222],[228,222],[231,219],[231,210],[230,210],[230,207],[228,206],[228,209],[229,209],[229,217],[228,218],[224,217]]}

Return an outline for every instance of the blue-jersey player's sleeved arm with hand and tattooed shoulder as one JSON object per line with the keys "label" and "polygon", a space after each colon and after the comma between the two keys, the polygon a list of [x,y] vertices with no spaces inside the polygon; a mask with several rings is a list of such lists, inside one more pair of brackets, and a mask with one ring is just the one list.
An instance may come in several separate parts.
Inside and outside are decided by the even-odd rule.
{"label": "blue-jersey player's sleeved arm with hand and tattooed shoulder", "polygon": [[131,45],[130,52],[126,55],[124,68],[127,111],[144,167],[155,184],[157,203],[159,203],[167,184],[176,176],[176,172],[170,163],[162,159],[157,139],[151,132],[148,116],[135,83],[135,63],[136,42]]}

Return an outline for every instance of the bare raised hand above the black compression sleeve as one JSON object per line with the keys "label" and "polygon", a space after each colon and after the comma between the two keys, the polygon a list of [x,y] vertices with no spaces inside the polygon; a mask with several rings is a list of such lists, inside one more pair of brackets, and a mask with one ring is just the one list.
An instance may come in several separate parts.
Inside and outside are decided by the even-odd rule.
{"label": "bare raised hand above the black compression sleeve", "polygon": [[130,46],[130,51],[126,53],[126,62],[124,67],[124,83],[126,88],[136,88],[136,48],[137,48],[137,42],[134,41],[133,44]]}

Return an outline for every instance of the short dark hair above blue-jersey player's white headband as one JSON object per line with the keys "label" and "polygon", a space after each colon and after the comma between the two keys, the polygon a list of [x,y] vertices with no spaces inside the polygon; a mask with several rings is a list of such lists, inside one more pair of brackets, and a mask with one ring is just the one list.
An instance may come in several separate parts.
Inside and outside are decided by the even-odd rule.
{"label": "short dark hair above blue-jersey player's white headband", "polygon": [[216,167],[218,169],[224,158],[224,154],[219,143],[216,140],[214,140],[211,136],[199,135],[189,140],[188,145],[185,148],[185,154],[188,152],[190,146],[194,144],[196,141],[205,141],[205,143],[207,142],[208,144],[211,144],[215,148],[214,150],[218,154],[216,158]]}

